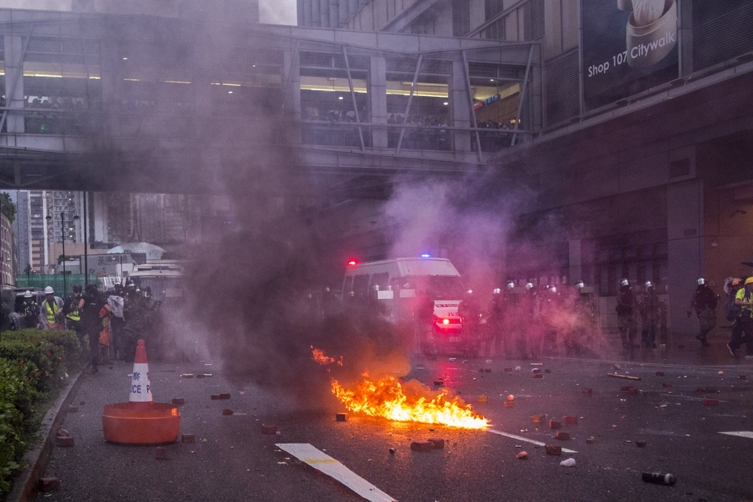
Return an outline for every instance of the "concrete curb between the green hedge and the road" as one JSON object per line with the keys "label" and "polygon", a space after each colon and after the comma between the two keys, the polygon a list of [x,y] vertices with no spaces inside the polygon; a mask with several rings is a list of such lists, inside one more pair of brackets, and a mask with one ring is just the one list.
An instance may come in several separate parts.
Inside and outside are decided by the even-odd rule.
{"label": "concrete curb between the green hedge and the road", "polygon": [[62,424],[62,419],[66,417],[66,409],[73,399],[74,394],[81,385],[81,375],[78,373],[73,377],[72,382],[60,391],[60,395],[47,410],[44,415],[42,424],[39,427],[38,436],[41,442],[37,443],[34,449],[26,452],[21,458],[21,464],[26,467],[20,467],[16,471],[13,487],[5,497],[6,502],[28,502],[34,500],[37,494],[37,484],[39,479],[47,469],[47,462],[50,460],[52,449],[55,446],[55,433]]}

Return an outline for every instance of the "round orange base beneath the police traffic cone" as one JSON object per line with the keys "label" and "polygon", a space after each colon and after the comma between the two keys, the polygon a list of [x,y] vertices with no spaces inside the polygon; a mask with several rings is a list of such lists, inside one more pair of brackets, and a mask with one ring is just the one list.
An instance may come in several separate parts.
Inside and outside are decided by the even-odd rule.
{"label": "round orange base beneath the police traffic cone", "polygon": [[[128,445],[173,443],[178,440],[181,414],[178,406],[169,403],[115,403],[105,405],[102,429],[105,440]],[[146,403],[145,403],[146,404]]]}

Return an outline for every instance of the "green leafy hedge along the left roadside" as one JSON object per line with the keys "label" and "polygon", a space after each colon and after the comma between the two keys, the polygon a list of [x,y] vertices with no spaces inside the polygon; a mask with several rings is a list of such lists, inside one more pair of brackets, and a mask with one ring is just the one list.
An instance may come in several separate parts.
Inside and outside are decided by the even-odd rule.
{"label": "green leafy hedge along the left roadside", "polygon": [[[35,412],[55,397],[67,373],[81,367],[81,344],[75,332],[20,330],[0,340],[0,493],[37,430]],[[41,418],[40,418],[41,419]]]}

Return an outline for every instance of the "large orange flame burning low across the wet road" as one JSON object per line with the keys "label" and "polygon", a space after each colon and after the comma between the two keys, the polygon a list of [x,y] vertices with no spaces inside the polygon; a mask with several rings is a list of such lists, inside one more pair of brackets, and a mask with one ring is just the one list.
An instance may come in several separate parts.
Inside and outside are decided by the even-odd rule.
{"label": "large orange flame burning low across the wet road", "polygon": [[467,429],[489,427],[489,421],[473,412],[470,404],[461,406],[457,397],[447,399],[447,391],[433,398],[408,396],[400,382],[390,375],[376,381],[367,377],[352,391],[333,380],[332,394],[351,412],[389,420],[444,424]]}

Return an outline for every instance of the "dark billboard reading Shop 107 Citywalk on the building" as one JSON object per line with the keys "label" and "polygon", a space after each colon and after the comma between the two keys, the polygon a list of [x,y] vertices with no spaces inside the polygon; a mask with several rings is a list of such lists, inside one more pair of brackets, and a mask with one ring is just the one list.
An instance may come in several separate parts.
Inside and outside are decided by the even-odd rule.
{"label": "dark billboard reading Shop 107 Citywalk on the building", "polygon": [[677,0],[581,0],[587,110],[678,77],[677,10]]}

